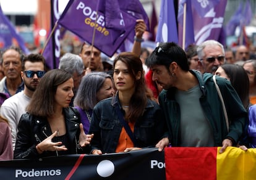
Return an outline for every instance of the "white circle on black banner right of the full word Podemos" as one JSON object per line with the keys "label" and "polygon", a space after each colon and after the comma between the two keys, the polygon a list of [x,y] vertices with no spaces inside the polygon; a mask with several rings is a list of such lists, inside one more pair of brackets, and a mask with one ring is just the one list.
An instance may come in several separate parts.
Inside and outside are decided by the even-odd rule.
{"label": "white circle on black banner right of the full word Podemos", "polygon": [[103,177],[109,177],[114,173],[114,163],[109,160],[103,160],[96,168],[97,173]]}

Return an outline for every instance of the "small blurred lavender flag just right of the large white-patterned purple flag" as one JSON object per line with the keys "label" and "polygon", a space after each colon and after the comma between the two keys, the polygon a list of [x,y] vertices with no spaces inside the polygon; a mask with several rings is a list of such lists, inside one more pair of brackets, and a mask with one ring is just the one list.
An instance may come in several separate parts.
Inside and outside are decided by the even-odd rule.
{"label": "small blurred lavender flag just right of the large white-patterned purple flag", "polygon": [[237,7],[236,12],[234,12],[233,16],[230,18],[229,22],[226,23],[226,35],[233,36],[236,30],[236,27],[240,25],[242,19],[242,2],[240,2]]}

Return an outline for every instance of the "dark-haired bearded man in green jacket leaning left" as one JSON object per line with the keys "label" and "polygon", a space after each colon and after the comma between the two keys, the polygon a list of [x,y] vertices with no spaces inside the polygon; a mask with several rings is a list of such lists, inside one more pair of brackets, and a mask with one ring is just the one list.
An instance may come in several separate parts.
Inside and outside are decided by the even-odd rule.
{"label": "dark-haired bearded man in green jacket leaning left", "polygon": [[146,65],[153,70],[153,80],[163,91],[159,96],[161,108],[169,130],[156,147],[163,150],[174,147],[236,146],[241,137],[247,112],[239,96],[224,78],[216,77],[228,113],[229,129],[223,107],[210,73],[189,70],[186,52],[175,43],[163,43],[156,47]]}

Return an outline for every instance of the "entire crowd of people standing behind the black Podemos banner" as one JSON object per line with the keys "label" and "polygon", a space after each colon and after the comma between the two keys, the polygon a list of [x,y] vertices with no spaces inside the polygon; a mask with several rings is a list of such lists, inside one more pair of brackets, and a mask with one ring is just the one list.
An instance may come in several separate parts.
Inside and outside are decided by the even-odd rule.
{"label": "entire crowd of people standing behind the black Podemos banner", "polygon": [[2,52],[0,160],[145,147],[254,148],[256,60],[249,49],[225,52],[208,40],[148,51],[144,32],[137,20],[132,52],[113,60],[83,43],[48,71],[43,55]]}

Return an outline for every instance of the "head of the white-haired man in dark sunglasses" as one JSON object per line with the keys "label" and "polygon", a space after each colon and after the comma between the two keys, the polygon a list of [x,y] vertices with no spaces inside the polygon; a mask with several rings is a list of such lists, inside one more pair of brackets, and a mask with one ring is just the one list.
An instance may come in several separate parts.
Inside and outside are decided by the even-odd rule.
{"label": "head of the white-haired man in dark sunglasses", "polygon": [[224,47],[215,40],[204,41],[197,47],[198,63],[202,73],[215,73],[220,65],[225,63]]}

